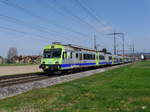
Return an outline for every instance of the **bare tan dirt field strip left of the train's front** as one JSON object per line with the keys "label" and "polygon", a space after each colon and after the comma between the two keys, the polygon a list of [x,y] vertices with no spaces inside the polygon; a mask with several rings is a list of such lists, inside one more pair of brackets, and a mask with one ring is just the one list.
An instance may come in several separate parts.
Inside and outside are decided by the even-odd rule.
{"label": "bare tan dirt field strip left of the train's front", "polygon": [[41,72],[41,70],[39,69],[38,65],[0,67],[0,76],[32,73],[32,72]]}

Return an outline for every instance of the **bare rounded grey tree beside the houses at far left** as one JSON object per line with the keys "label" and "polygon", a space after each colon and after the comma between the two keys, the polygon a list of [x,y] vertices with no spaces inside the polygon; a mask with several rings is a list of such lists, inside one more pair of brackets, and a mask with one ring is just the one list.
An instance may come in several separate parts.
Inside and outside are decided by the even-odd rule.
{"label": "bare rounded grey tree beside the houses at far left", "polygon": [[13,58],[14,56],[18,56],[18,50],[17,50],[17,48],[15,48],[15,47],[11,47],[11,48],[9,48],[9,50],[8,50],[8,55],[7,55],[8,62],[12,62],[12,58]]}

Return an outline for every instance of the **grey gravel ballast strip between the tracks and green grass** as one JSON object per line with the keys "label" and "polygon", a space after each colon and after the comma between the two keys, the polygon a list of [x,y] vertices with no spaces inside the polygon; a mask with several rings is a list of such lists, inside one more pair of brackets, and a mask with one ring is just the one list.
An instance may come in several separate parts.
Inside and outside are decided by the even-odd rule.
{"label": "grey gravel ballast strip between the tracks and green grass", "polygon": [[[125,65],[128,65],[128,64],[125,64]],[[71,80],[87,77],[90,75],[94,75],[95,73],[105,72],[107,70],[119,68],[119,67],[122,67],[125,65],[99,68],[99,69],[95,69],[95,70],[84,71],[84,72],[79,72],[79,73],[74,73],[74,74],[69,74],[69,75],[64,75],[64,76],[50,77],[50,78],[40,80],[40,81],[34,81],[34,82],[29,82],[29,83],[24,83],[24,84],[17,84],[17,85],[12,85],[12,86],[3,87],[3,88],[1,87],[0,88],[0,99],[15,96],[17,94],[21,94],[23,92],[33,90],[36,88],[44,88],[44,87],[48,87],[51,85],[60,84],[63,82],[68,82]]]}

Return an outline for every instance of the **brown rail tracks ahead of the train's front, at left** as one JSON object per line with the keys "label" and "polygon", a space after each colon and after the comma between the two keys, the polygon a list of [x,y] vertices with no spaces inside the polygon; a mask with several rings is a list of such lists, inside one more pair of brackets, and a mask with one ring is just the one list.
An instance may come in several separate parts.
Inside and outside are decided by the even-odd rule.
{"label": "brown rail tracks ahead of the train's front, at left", "polygon": [[12,76],[3,76],[0,77],[0,87],[12,86],[15,84],[22,84],[37,80],[47,79],[48,75],[44,73],[37,74],[22,74],[22,75],[12,75]]}

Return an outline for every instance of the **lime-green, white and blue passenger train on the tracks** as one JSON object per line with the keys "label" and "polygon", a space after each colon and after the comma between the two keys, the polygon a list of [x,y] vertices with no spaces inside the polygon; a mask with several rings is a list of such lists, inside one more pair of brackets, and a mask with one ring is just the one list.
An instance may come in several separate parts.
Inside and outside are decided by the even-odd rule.
{"label": "lime-green, white and blue passenger train on the tracks", "polygon": [[114,56],[76,45],[53,43],[44,47],[40,68],[43,71],[63,71],[123,64],[131,61],[131,57],[123,59],[122,56]]}

